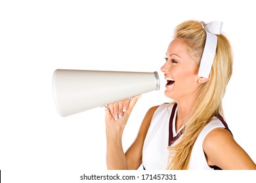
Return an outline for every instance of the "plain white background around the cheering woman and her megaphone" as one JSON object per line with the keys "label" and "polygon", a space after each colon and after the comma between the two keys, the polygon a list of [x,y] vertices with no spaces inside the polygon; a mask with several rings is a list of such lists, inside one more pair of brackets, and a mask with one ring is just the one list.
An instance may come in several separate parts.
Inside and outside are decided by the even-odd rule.
{"label": "plain white background around the cheering woman and her megaphone", "polygon": [[3,182],[75,182],[87,171],[106,170],[104,108],[60,117],[53,101],[53,71],[158,71],[161,90],[142,95],[135,106],[123,134],[126,150],[148,108],[169,101],[163,95],[160,67],[173,29],[186,20],[223,21],[223,32],[234,51],[234,72],[223,99],[226,122],[256,161],[256,13],[252,3],[1,1]]}

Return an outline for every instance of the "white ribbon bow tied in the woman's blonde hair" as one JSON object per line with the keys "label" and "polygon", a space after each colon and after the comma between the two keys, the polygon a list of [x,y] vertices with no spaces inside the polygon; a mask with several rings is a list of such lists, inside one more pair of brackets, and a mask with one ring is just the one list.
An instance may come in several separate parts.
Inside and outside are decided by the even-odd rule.
{"label": "white ribbon bow tied in the woman's blonde hair", "polygon": [[203,29],[206,33],[205,46],[203,49],[203,55],[198,71],[198,76],[203,78],[209,78],[209,74],[211,72],[211,66],[213,65],[213,60],[215,57],[215,52],[217,48],[217,36],[221,34],[221,28],[223,26],[223,22],[210,22],[209,24],[205,24],[201,22]]}

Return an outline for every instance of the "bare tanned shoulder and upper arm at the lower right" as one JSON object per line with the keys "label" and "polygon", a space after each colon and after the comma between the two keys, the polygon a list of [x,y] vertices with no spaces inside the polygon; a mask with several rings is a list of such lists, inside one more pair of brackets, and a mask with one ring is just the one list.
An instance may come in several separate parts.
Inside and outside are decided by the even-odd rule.
{"label": "bare tanned shoulder and upper arm at the lower right", "polygon": [[216,165],[221,169],[256,169],[255,163],[244,149],[222,127],[213,129],[206,135],[203,150],[208,165]]}

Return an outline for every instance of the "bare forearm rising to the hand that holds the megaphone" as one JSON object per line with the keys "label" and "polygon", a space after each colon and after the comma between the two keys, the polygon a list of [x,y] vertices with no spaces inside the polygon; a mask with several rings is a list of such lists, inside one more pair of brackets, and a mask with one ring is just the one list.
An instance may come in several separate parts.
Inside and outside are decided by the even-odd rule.
{"label": "bare forearm rising to the hand that holds the megaphone", "polygon": [[107,135],[106,164],[108,169],[112,170],[127,169],[127,161],[119,135]]}

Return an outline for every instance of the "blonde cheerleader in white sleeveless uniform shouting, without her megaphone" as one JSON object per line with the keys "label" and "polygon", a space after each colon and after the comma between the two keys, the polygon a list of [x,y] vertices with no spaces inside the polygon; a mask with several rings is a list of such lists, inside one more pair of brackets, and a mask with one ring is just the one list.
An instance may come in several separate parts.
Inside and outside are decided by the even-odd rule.
{"label": "blonde cheerleader in white sleeveless uniform shouting, without her megaphone", "polygon": [[108,169],[256,169],[224,122],[221,100],[232,75],[232,50],[221,26],[177,26],[161,67],[165,95],[175,102],[148,110],[125,153],[121,137],[139,96],[108,105]]}

